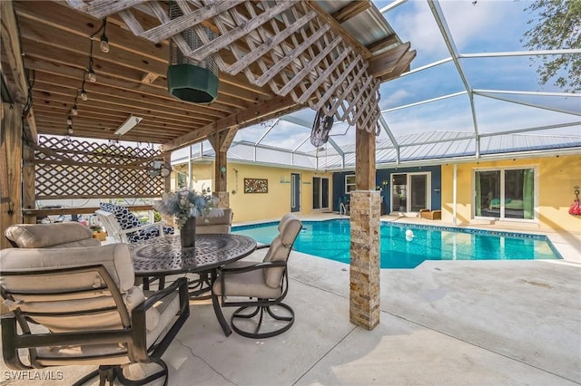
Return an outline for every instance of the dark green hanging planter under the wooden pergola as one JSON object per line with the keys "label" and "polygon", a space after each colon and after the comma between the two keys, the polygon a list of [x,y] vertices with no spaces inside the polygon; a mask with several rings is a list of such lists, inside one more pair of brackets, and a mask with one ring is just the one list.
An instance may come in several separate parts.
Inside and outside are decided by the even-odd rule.
{"label": "dark green hanging planter under the wooden pergola", "polygon": [[[170,19],[182,16],[182,10],[175,3],[170,4]],[[201,27],[208,39],[215,34],[207,27]],[[192,28],[181,33],[193,50],[202,47],[203,42]],[[196,62],[185,56],[180,48],[170,40],[170,59],[167,68],[167,88],[174,97],[194,103],[211,103],[218,96],[218,66],[212,57]]]}

